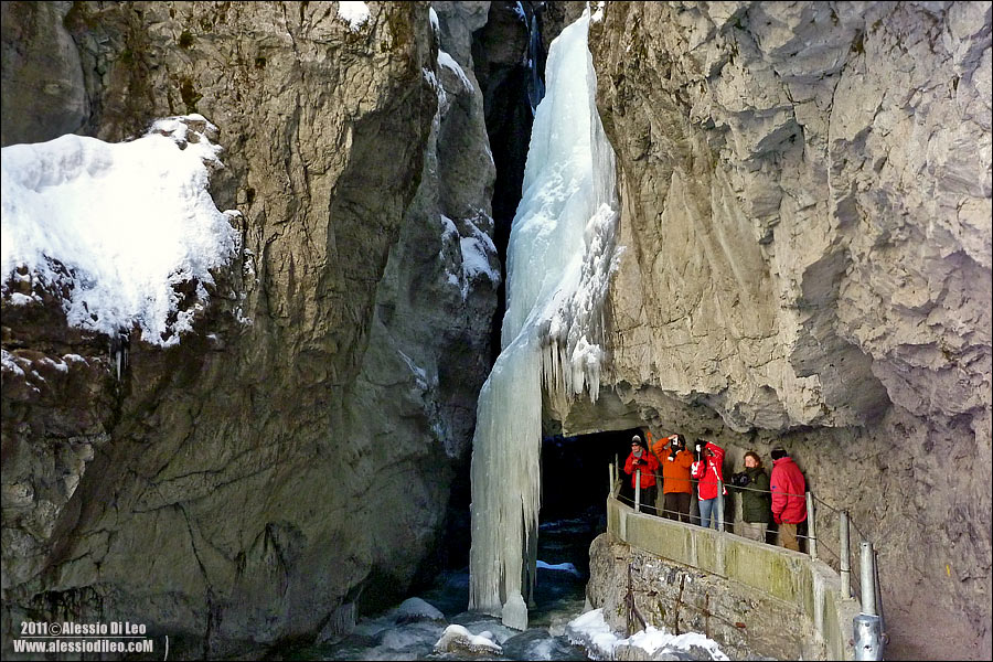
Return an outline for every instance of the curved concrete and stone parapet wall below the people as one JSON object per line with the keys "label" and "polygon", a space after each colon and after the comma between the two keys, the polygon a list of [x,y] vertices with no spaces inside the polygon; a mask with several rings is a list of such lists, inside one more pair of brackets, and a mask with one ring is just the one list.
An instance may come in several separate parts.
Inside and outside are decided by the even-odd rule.
{"label": "curved concrete and stone parapet wall below the people", "polygon": [[613,498],[607,500],[607,530],[590,548],[588,594],[615,627],[626,626],[630,581],[650,624],[706,628],[729,654],[854,659],[852,619],[859,605],[842,595],[841,579],[826,564],[636,513]]}

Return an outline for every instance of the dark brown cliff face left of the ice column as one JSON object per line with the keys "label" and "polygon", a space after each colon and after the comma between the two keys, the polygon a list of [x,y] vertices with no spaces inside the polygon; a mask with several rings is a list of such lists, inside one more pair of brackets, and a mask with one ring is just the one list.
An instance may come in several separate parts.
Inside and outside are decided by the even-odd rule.
{"label": "dark brown cliff face left of the ice column", "polygon": [[[120,382],[57,293],[3,301],[4,631],[128,619],[188,656],[331,638],[433,558],[490,353],[480,260],[499,274],[481,97],[428,3],[355,28],[337,7],[4,3],[4,145],[200,113],[244,246],[195,333],[134,339]],[[8,124],[38,104],[58,121]]]}

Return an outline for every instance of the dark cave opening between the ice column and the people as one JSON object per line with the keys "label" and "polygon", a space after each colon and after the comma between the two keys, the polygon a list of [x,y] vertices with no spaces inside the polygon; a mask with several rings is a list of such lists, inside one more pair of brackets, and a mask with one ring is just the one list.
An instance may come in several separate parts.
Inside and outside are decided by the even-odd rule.
{"label": "dark cave opening between the ice column and the people", "polygon": [[607,466],[615,459],[623,465],[634,435],[643,436],[643,431],[629,428],[542,439],[533,623],[570,602],[581,609],[589,579],[589,544],[607,531]]}

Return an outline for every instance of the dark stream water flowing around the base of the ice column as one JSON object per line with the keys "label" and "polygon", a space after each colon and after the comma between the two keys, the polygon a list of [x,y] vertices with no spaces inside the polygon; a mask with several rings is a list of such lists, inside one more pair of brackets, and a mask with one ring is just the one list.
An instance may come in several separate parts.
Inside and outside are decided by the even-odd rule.
{"label": "dark stream water flowing around the base of the ice column", "polygon": [[[596,513],[546,522],[540,526],[538,570],[528,628],[503,626],[499,618],[466,611],[469,569],[442,573],[435,585],[417,597],[438,609],[444,619],[412,616],[397,609],[359,620],[344,640],[299,648],[289,660],[465,660],[466,653],[436,653],[435,643],[449,624],[472,634],[489,631],[502,654],[472,654],[473,660],[589,660],[586,651],[569,643],[566,623],[583,613],[589,578],[589,544],[602,531]],[[555,567],[542,567],[542,566]]]}

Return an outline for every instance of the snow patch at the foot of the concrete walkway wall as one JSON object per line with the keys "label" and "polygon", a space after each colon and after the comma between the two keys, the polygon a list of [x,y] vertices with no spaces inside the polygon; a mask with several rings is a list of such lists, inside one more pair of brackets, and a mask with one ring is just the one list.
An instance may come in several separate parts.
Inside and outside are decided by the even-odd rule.
{"label": "snow patch at the foot of the concrete walkway wall", "polygon": [[675,636],[665,628],[660,630],[649,626],[628,638],[621,638],[604,620],[602,609],[587,611],[569,621],[566,636],[573,643],[586,647],[590,656],[599,660],[612,660],[617,648],[623,645],[640,648],[649,655],[662,649],[688,651],[691,647],[695,647],[707,651],[712,660],[728,660],[716,641],[698,632]]}

